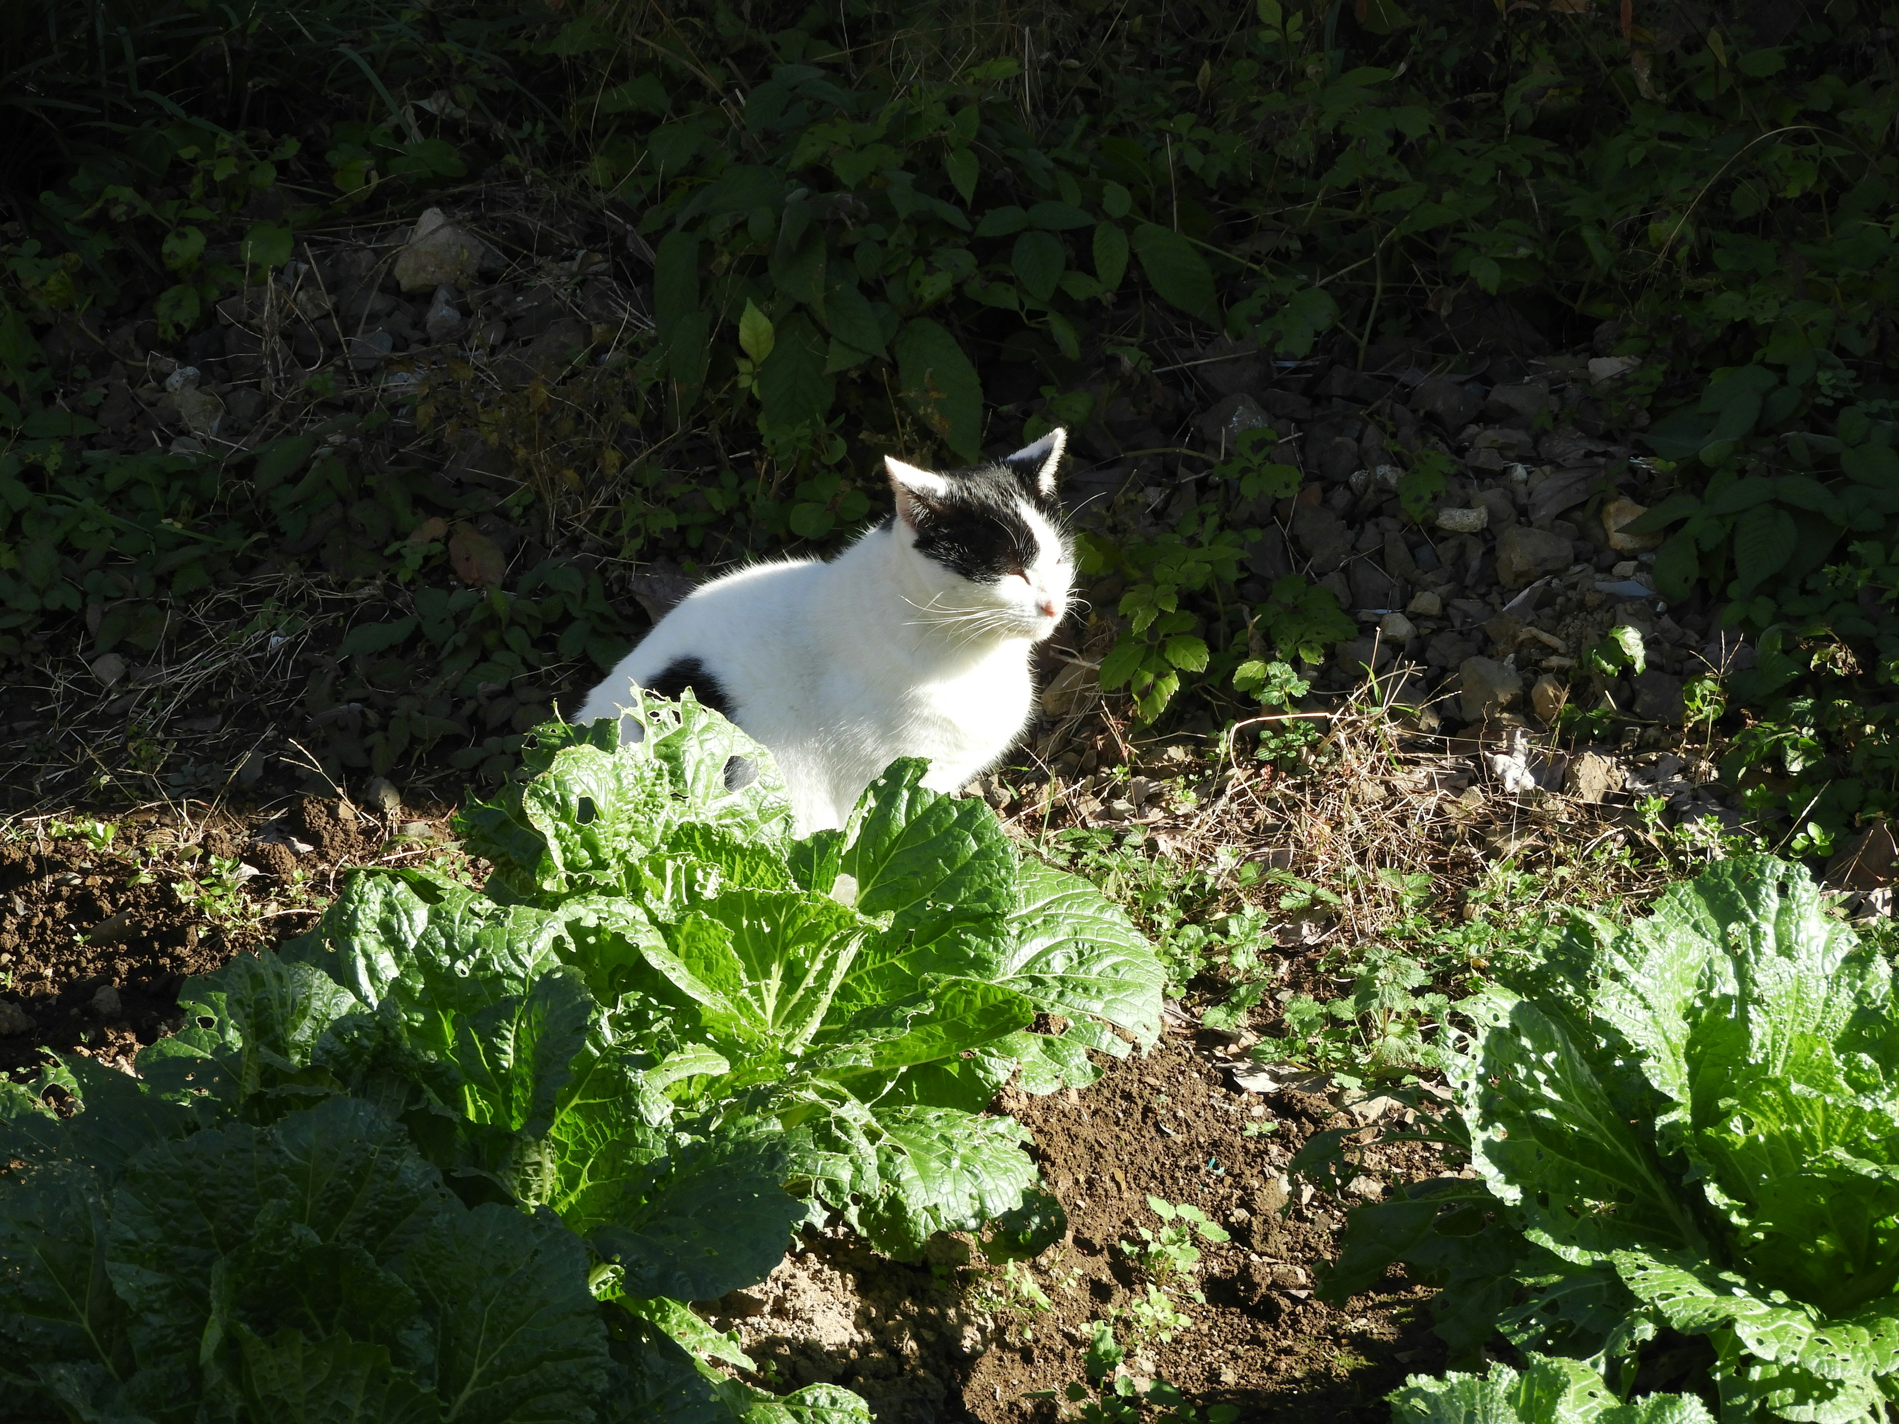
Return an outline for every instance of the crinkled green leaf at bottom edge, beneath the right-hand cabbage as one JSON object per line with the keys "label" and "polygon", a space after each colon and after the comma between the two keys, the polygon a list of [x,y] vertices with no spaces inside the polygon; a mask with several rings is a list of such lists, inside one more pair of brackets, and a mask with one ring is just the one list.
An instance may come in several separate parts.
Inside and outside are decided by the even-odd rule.
{"label": "crinkled green leaf at bottom edge, beneath the right-hand cabbage", "polygon": [[1622,1403],[1580,1359],[1529,1356],[1521,1373],[1413,1375],[1392,1392],[1392,1424],[1713,1424],[1694,1396],[1650,1394]]}

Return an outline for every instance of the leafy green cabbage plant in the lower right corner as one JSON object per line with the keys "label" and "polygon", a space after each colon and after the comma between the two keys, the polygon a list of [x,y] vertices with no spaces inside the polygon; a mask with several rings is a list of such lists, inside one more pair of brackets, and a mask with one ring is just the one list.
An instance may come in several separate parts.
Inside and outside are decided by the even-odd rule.
{"label": "leafy green cabbage plant in the lower right corner", "polygon": [[[1455,1350],[1500,1331],[1567,1358],[1551,1378],[1588,1361],[1597,1401],[1641,1378],[1722,1418],[1882,1418],[1899,1371],[1890,961],[1768,856],[1551,949],[1458,1006],[1451,1139],[1477,1175],[1358,1208],[1326,1289],[1403,1261],[1445,1287]],[[1400,1416],[1500,1384],[1519,1388],[1420,1386]],[[1521,1418],[1572,1416],[1531,1396]]]}

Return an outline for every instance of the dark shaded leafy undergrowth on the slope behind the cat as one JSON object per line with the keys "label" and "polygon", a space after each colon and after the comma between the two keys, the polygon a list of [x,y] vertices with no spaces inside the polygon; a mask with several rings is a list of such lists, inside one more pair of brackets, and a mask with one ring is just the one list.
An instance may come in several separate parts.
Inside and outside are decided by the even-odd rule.
{"label": "dark shaded leafy undergrowth on the slope behind the cat", "polygon": [[[499,775],[513,720],[636,634],[642,577],[828,547],[881,501],[881,454],[972,459],[1060,422],[1096,501],[1103,685],[1141,718],[1231,718],[1284,685],[1272,661],[1318,665],[1356,625],[1250,566],[1301,473],[1270,435],[1183,450],[1198,410],[1337,366],[1495,385],[1620,355],[1639,365],[1567,414],[1646,440],[1601,494],[1654,505],[1669,600],[1751,638],[1728,775],[1823,851],[1895,788],[1893,21],[1852,0],[11,6],[6,676],[161,663],[268,585],[218,627],[302,628],[287,676],[330,775]],[[513,391],[465,363],[338,384],[348,351],[319,346],[245,439],[95,439],[112,363],[190,361],[218,302],[431,203],[480,207],[515,268],[591,254],[627,296],[613,330]],[[1407,414],[1384,422],[1386,507],[1419,518],[1447,465]],[[469,431],[520,480],[505,577],[404,541],[480,513],[425,478]],[[1088,484],[1126,452],[1160,497]],[[387,604],[367,623],[311,611],[365,587]],[[368,720],[323,721],[351,706]],[[148,733],[125,733],[142,775],[230,775],[230,748],[180,761]],[[49,729],[21,737],[21,790],[70,794]]]}

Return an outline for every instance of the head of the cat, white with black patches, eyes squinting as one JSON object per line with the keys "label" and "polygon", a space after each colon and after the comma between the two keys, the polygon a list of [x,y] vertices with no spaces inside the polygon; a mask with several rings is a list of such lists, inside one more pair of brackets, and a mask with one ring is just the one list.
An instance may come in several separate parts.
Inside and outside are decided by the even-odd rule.
{"label": "head of the cat, white with black patches, eyes squinting", "polygon": [[978,465],[932,473],[887,459],[893,532],[910,551],[917,619],[972,638],[1041,642],[1067,613],[1075,549],[1056,475],[1067,431]]}

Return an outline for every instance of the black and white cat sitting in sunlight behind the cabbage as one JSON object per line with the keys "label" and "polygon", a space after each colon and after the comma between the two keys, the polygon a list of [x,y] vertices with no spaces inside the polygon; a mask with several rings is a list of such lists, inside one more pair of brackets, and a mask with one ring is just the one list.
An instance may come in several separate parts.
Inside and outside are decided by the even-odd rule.
{"label": "black and white cat sitting in sunlight behind the cabbage", "polygon": [[[843,826],[896,758],[953,792],[1035,704],[1029,649],[1067,613],[1075,553],[1056,501],[1067,442],[934,475],[887,459],[896,513],[837,558],[752,564],[695,589],[589,693],[611,718],[638,685],[686,687],[763,742],[798,834]],[[621,723],[625,735],[630,723]]]}

